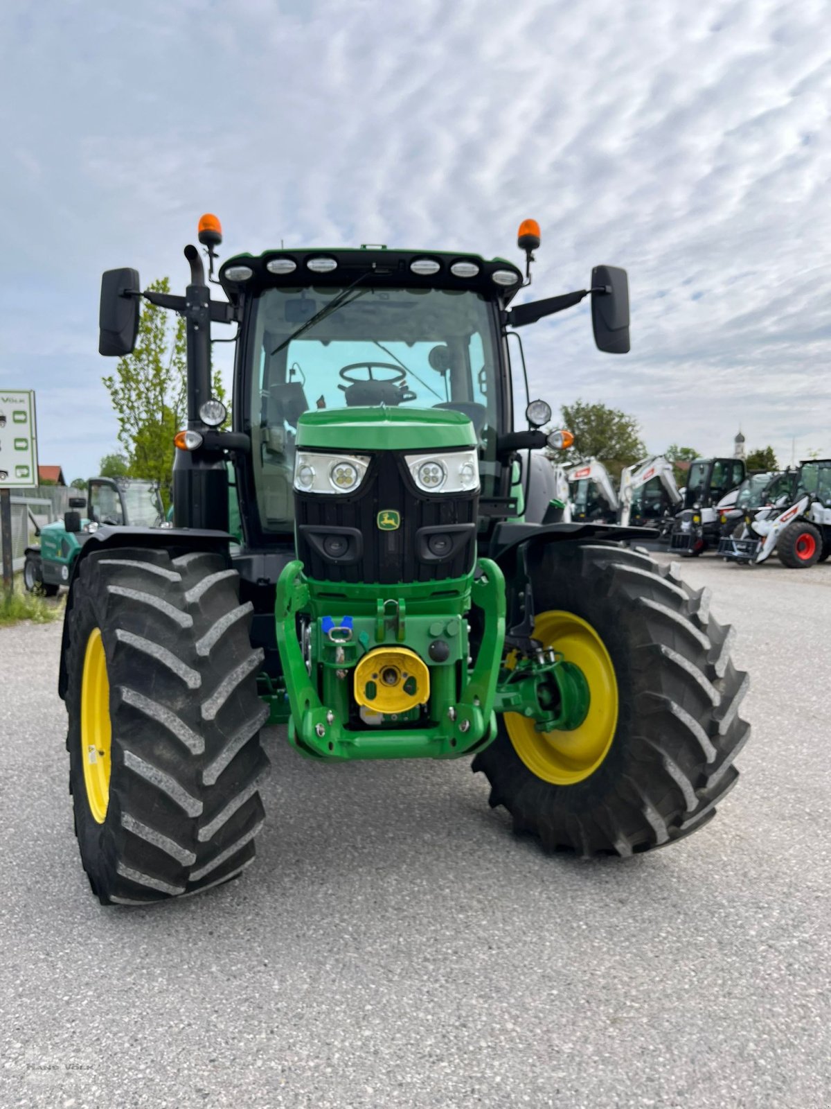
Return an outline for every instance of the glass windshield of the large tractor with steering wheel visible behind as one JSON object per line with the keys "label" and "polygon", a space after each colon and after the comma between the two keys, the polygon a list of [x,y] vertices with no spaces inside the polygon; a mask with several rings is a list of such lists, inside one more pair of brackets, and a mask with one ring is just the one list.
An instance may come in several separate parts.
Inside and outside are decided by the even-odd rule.
{"label": "glass windshield of the large tractor with steering wheel visible behind", "polygon": [[257,297],[252,327],[252,446],[265,528],[293,526],[297,420],[309,409],[462,411],[482,445],[483,494],[493,487],[502,394],[493,309],[481,294],[268,288]]}

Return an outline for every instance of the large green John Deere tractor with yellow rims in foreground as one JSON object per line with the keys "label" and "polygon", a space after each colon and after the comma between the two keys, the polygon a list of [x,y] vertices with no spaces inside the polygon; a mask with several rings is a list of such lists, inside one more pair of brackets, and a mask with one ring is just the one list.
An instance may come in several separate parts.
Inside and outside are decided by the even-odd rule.
{"label": "large green John Deere tractor with yellow rims in foreground", "polygon": [[[523,224],[526,277],[538,237]],[[199,240],[212,277],[215,217]],[[252,862],[266,723],[320,762],[474,756],[491,805],[550,852],[700,828],[748,735],[728,629],[628,546],[649,532],[556,522],[542,448],[567,437],[538,429],[547,404],[514,429],[511,334],[588,296],[597,346],[627,352],[625,272],[511,307],[523,273],[503,258],[274,250],[225,262],[218,301],[185,256],[184,296],[132,269],[102,283],[104,355],[132,350],[142,296],[184,315],[188,418],[173,527],[102,526],[72,568],[60,692],[100,899],[146,905]],[[212,323],[237,326],[233,430]]]}

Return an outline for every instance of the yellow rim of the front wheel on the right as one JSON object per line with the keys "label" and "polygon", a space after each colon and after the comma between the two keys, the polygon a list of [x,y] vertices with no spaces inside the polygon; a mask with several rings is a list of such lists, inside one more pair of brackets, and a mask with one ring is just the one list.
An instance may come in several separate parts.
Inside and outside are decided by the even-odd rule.
{"label": "yellow rim of the front wheel on the right", "polygon": [[505,713],[505,728],[532,774],[554,785],[575,785],[597,770],[612,746],[617,726],[615,668],[594,628],[572,612],[541,612],[534,621],[534,639],[583,671],[588,713],[571,732],[537,732],[533,720],[515,712]]}

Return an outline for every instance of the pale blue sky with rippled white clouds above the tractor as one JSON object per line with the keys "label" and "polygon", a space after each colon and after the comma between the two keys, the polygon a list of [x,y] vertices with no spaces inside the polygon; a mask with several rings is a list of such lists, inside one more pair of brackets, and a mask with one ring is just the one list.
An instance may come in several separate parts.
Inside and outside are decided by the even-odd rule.
{"label": "pale blue sky with rippled white clouds above the tractor", "polygon": [[[294,245],[516,257],[533,295],[629,272],[632,354],[587,306],[524,332],[532,389],[676,441],[831,455],[828,0],[142,0],[0,6],[0,386],[38,390],[41,462],[116,425],[101,271],[184,287]],[[523,297],[531,298],[531,293]]]}

